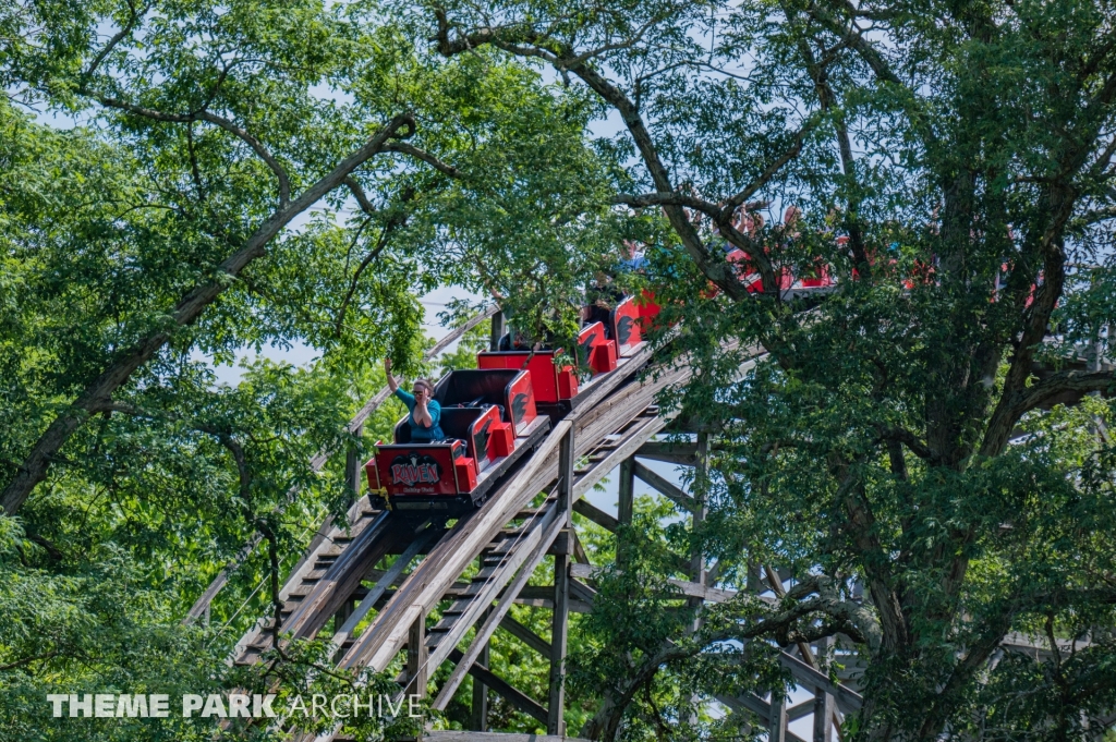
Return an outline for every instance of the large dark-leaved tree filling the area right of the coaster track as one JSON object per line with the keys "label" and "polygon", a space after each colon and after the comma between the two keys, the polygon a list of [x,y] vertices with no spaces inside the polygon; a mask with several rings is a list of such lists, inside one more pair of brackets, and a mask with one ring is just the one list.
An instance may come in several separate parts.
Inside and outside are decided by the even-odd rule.
{"label": "large dark-leaved tree filling the area right of the coaster track", "polygon": [[[662,636],[635,617],[602,626],[627,669],[600,677],[610,701],[587,731],[634,723],[653,702],[644,687],[670,672],[706,693],[743,682],[725,638],[757,652],[854,642],[866,702],[846,729],[863,739],[1068,739],[1116,706],[1103,680],[1116,649],[1113,450],[1099,435],[1112,409],[1083,399],[1114,389],[1098,362],[1116,306],[1114,12],[431,4],[423,32],[442,54],[548,65],[623,122],[607,144],[631,160],[612,201],[662,212],[646,281],[700,368],[689,415],[725,445],[692,538],[730,578],[772,561],[798,577],[778,608],[711,611],[666,646],[636,642]],[[737,221],[770,205],[804,215]],[[739,280],[725,242],[762,291]],[[781,295],[785,270],[822,266],[839,285],[824,302]],[[735,380],[756,344],[764,356]],[[1010,632],[1052,659],[992,662]],[[1088,648],[1059,654],[1056,637],[1086,634]]]}

